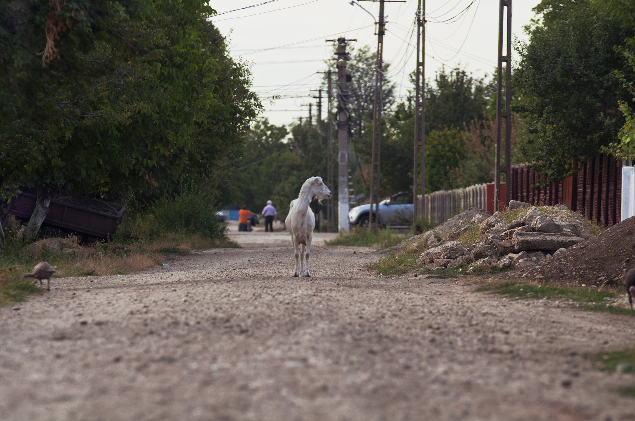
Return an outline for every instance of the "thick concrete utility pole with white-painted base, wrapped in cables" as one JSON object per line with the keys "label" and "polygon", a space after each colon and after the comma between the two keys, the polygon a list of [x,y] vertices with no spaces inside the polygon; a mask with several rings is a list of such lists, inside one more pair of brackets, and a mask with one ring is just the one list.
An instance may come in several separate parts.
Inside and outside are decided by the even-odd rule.
{"label": "thick concrete utility pole with white-painted base, wrapped in cables", "polygon": [[[326,40],[331,41],[331,40]],[[332,41],[336,41],[333,39]],[[349,75],[346,46],[356,39],[337,39],[337,230],[349,232]]]}

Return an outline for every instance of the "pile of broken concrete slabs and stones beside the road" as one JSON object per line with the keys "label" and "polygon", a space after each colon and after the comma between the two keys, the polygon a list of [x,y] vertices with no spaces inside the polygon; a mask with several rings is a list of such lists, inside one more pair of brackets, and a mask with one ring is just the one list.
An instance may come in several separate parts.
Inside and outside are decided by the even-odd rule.
{"label": "pile of broken concrete slabs and stones beside the road", "polygon": [[[527,209],[526,214],[524,209]],[[511,223],[502,218],[505,214],[501,212],[490,216],[481,210],[470,221],[461,219],[462,214],[467,215],[469,211],[458,214],[452,219],[458,219],[460,223],[458,226],[453,224],[452,232],[443,233],[437,229],[422,235],[428,249],[417,259],[417,264],[424,264],[428,269],[469,266],[468,271],[526,268],[593,235],[579,216],[565,205],[552,207],[550,216],[553,219],[537,207],[516,200],[510,202],[507,212],[514,210],[522,210],[516,213],[525,215]],[[473,209],[470,211],[474,214]],[[476,242],[465,245],[465,242],[456,241],[474,228],[481,233]]]}

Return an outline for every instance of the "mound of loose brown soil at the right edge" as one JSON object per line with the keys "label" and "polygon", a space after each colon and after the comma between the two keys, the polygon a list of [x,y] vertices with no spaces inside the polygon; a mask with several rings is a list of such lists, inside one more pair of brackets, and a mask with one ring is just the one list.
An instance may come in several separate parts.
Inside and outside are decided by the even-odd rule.
{"label": "mound of loose brown soil at the right edge", "polygon": [[613,225],[597,236],[567,250],[559,250],[551,259],[505,278],[518,277],[566,284],[602,284],[617,286],[624,271],[635,266],[635,216]]}

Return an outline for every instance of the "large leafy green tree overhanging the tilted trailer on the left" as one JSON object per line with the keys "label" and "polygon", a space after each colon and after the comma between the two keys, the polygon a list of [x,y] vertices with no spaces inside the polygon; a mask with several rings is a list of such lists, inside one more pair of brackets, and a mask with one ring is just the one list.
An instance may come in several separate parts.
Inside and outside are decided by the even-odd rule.
{"label": "large leafy green tree overhanging the tilted trailer on the left", "polygon": [[[29,64],[37,79],[58,75],[66,63],[94,63],[81,76],[62,73],[42,84],[32,107],[46,120],[23,110],[14,113],[15,120],[3,120],[2,127],[13,131],[0,134],[8,145],[0,159],[10,162],[0,169],[0,191],[6,198],[20,185],[38,186],[31,232],[46,216],[55,188],[112,197],[113,190],[169,191],[184,175],[213,175],[215,162],[239,155],[243,133],[260,110],[248,68],[227,56],[224,38],[206,21],[213,10],[205,2],[144,0],[127,9],[109,4],[104,36],[82,49],[64,49],[62,37],[54,68],[38,73]],[[60,7],[56,18],[81,15]],[[45,22],[37,13],[34,32],[43,34]],[[74,28],[67,30],[69,39]],[[119,39],[131,40],[125,44],[130,48]],[[22,69],[9,70],[20,75]],[[20,154],[25,150],[33,152]]]}

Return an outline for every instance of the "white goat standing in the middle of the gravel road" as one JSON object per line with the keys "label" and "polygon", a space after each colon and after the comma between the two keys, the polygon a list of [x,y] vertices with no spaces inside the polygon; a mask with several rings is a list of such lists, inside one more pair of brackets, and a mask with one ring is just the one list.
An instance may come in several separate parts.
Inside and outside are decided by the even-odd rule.
{"label": "white goat standing in the middle of the gravel road", "polygon": [[284,220],[287,230],[291,233],[291,243],[293,243],[293,252],[295,253],[293,276],[311,276],[309,273],[309,252],[311,251],[313,229],[316,227],[316,218],[309,209],[309,203],[314,197],[318,200],[331,198],[331,191],[324,185],[321,177],[311,177],[304,182],[298,198],[291,200],[289,214]]}

